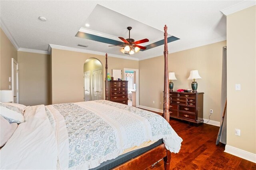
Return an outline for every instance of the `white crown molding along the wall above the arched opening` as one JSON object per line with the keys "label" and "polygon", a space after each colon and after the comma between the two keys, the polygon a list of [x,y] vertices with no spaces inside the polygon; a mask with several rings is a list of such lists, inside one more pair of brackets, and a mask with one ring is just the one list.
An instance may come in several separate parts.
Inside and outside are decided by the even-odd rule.
{"label": "white crown molding along the wall above the arched opening", "polygon": [[[66,47],[66,46],[62,46],[62,45],[54,45],[54,44],[49,44],[51,48],[54,49],[63,49],[63,50],[68,50],[68,51],[76,51],[76,52],[80,52],[80,53],[90,53],[90,54],[96,54],[96,55],[105,55],[106,53],[102,53],[102,52],[98,52],[98,51],[91,51],[88,49],[80,49],[80,48],[74,48],[74,47]],[[126,57],[123,55],[116,55],[116,54],[110,54],[108,53],[108,57],[116,57],[116,58],[122,58],[122,59],[131,59],[131,60],[136,60],[138,61],[138,58],[134,58],[134,57]]]}

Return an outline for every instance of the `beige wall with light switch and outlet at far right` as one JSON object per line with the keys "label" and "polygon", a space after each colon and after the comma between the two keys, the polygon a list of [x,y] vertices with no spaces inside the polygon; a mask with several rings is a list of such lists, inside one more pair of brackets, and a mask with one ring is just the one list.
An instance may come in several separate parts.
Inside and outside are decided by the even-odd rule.
{"label": "beige wall with light switch and outlet at far right", "polygon": [[227,144],[256,154],[256,6],[227,16],[227,95]]}

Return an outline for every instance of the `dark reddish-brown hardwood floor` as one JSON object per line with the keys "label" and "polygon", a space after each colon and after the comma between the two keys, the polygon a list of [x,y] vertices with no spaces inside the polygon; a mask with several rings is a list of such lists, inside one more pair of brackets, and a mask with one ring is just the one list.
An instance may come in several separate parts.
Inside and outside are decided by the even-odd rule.
{"label": "dark reddish-brown hardwood floor", "polygon": [[[224,144],[216,146],[219,127],[195,126],[172,118],[170,125],[183,139],[180,152],[172,153],[171,170],[256,170],[255,163],[224,152]],[[164,170],[163,160],[146,170],[152,169]]]}

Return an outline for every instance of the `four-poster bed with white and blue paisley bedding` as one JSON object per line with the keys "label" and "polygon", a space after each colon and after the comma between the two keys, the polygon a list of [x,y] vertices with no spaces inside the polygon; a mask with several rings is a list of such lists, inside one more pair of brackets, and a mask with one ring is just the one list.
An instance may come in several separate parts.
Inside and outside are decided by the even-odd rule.
{"label": "four-poster bed with white and blue paisley bedding", "polygon": [[16,107],[25,121],[1,148],[0,168],[140,170],[164,158],[168,170],[182,139],[168,123],[167,55],[165,26],[164,118],[108,101],[106,54],[106,100]]}

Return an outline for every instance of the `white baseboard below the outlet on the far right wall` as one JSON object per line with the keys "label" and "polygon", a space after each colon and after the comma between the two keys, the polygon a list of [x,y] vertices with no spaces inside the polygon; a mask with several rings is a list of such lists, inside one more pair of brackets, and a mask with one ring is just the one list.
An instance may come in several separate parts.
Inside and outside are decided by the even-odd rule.
{"label": "white baseboard below the outlet on the far right wall", "polygon": [[247,152],[245,150],[242,150],[242,149],[239,149],[239,148],[227,145],[227,144],[225,146],[224,152],[256,163],[256,154],[254,154],[254,153]]}

